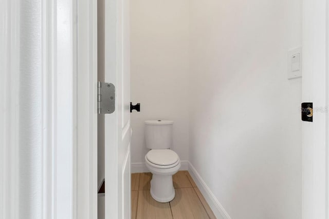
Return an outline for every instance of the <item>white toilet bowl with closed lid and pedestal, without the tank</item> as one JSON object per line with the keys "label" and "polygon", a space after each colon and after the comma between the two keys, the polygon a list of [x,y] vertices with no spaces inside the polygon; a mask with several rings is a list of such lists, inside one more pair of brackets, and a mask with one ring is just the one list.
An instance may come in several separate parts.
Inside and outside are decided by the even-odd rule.
{"label": "white toilet bowl with closed lid and pedestal, without the tank", "polygon": [[175,197],[172,176],[180,168],[178,155],[170,149],[153,149],[145,155],[145,164],[153,174],[151,196],[157,202],[172,201]]}

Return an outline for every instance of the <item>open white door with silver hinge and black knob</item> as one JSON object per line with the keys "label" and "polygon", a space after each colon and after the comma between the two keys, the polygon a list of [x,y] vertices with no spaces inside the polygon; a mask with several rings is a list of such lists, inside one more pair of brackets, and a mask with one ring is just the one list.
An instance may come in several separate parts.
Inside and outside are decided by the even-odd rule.
{"label": "open white door with silver hinge and black knob", "polygon": [[116,109],[104,116],[105,219],[131,218],[129,0],[106,0],[104,12],[104,82],[116,87]]}

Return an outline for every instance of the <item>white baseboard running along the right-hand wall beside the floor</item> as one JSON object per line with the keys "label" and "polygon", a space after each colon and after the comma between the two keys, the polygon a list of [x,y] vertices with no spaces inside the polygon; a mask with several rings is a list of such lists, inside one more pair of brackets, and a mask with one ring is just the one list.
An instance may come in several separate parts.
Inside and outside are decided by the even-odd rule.
{"label": "white baseboard running along the right-hand wall beside the floor", "polygon": [[190,162],[188,162],[188,164],[189,164],[190,175],[192,176],[200,192],[205,197],[207,203],[209,204],[212,212],[215,214],[217,219],[231,219],[230,215],[228,215],[228,213],[225,211],[224,207],[217,200],[215,195],[206,185],[205,181],[202,179],[202,177],[199,175],[199,173],[196,171],[193,165]]}

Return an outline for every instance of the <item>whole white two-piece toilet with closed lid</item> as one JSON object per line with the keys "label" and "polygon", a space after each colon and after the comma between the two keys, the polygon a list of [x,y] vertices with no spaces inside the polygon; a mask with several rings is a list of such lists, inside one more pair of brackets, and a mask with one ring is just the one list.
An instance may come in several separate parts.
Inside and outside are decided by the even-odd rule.
{"label": "whole white two-piece toilet with closed lid", "polygon": [[173,174],[180,168],[179,156],[170,150],[173,143],[173,121],[145,121],[145,164],[153,174],[151,195],[155,201],[170,202],[175,197]]}

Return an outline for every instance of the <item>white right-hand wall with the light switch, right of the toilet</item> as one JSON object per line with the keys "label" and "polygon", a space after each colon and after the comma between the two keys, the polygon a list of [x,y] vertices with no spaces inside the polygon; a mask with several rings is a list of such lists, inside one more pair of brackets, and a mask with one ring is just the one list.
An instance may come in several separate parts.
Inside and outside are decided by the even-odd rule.
{"label": "white right-hand wall with the light switch, right of the toilet", "polygon": [[191,0],[190,14],[190,162],[231,218],[301,218],[301,79],[286,69],[302,1]]}

